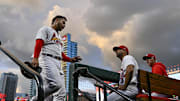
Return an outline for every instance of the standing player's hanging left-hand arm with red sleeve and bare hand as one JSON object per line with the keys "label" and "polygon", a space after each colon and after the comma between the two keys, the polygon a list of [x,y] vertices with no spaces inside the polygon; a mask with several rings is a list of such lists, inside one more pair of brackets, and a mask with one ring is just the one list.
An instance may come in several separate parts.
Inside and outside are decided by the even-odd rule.
{"label": "standing player's hanging left-hand arm with red sleeve and bare hand", "polygon": [[37,39],[34,47],[34,56],[32,59],[32,66],[37,67],[39,65],[38,57],[41,52],[41,48],[44,45],[44,41],[42,39]]}

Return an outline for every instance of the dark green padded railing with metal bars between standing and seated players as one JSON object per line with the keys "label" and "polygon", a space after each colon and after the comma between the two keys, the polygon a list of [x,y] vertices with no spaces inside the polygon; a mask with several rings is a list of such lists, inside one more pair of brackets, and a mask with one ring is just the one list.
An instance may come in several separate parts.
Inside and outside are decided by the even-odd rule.
{"label": "dark green padded railing with metal bars between standing and seated players", "polygon": [[84,64],[71,64],[70,66],[70,80],[69,80],[69,101],[77,101],[78,92],[78,77],[79,76],[89,77],[95,79],[97,82],[103,85],[104,89],[104,101],[107,101],[106,89],[112,90],[119,96],[123,97],[127,101],[134,101],[129,96],[119,92],[115,88],[104,83],[104,81],[116,82],[119,81],[119,73],[103,70],[100,68],[84,65]]}

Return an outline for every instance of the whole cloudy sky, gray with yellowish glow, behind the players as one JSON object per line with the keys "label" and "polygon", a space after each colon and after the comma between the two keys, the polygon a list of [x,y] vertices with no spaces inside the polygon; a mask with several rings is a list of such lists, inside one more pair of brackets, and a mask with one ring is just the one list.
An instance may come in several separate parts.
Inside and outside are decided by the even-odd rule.
{"label": "whole cloudy sky, gray with yellowish glow, behind the players", "polygon": [[[126,45],[140,68],[150,71],[142,60],[147,53],[166,66],[179,64],[179,5],[179,0],[0,0],[0,41],[22,61],[31,61],[37,31],[64,15],[68,21],[60,34],[71,33],[78,42],[81,63],[118,71],[112,48]],[[0,72],[21,75],[2,52]],[[22,87],[29,81],[20,78],[19,92],[27,92]]]}

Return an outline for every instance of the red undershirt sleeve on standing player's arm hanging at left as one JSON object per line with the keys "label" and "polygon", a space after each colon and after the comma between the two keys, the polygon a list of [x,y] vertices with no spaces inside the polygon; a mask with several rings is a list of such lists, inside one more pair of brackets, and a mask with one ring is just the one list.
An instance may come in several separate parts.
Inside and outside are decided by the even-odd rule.
{"label": "red undershirt sleeve on standing player's arm hanging at left", "polygon": [[34,48],[34,58],[38,58],[41,52],[41,48],[44,45],[44,41],[42,39],[37,39],[35,48]]}

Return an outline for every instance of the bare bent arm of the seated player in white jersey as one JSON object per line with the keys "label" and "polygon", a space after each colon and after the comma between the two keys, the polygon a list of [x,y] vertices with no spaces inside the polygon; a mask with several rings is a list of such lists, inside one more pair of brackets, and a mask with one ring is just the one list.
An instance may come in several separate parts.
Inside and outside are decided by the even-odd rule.
{"label": "bare bent arm of the seated player in white jersey", "polygon": [[119,85],[120,90],[125,90],[127,88],[127,86],[129,85],[132,79],[133,71],[134,71],[134,65],[128,65],[125,74],[125,84]]}

